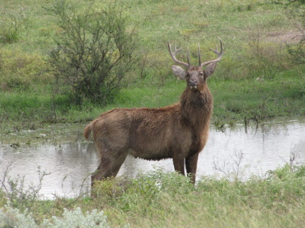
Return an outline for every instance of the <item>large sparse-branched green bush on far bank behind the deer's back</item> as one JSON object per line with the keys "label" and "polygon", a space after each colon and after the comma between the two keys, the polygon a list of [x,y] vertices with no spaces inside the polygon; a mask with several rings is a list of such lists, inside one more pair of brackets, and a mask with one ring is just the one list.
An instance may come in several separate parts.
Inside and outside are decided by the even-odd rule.
{"label": "large sparse-branched green bush on far bank behind the deer's back", "polygon": [[81,12],[65,0],[47,9],[62,29],[50,53],[51,72],[78,104],[109,101],[137,62],[135,32],[123,9],[115,2],[102,10],[88,4]]}

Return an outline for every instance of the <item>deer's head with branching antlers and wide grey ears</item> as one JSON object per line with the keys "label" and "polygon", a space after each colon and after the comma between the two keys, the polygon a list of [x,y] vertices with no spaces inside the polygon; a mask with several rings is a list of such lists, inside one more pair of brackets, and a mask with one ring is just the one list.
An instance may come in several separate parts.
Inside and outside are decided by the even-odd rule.
{"label": "deer's head with branching antlers and wide grey ears", "polygon": [[[189,48],[188,48],[188,63],[186,62],[182,62],[176,59],[176,54],[178,51],[181,50],[181,48],[177,49],[175,46],[175,52],[173,53],[171,50],[171,46],[170,43],[168,42],[168,49],[169,49],[169,53],[172,57],[172,59],[183,66],[187,67],[187,70],[184,70],[182,67],[180,66],[176,66],[173,65],[172,66],[172,70],[175,74],[175,76],[177,77],[177,79],[180,80],[186,80],[188,86],[193,89],[193,90],[200,90],[200,88],[205,84],[206,79],[209,77],[209,75],[211,75],[215,69],[216,69],[216,65],[217,62],[219,62],[222,58],[222,54],[223,54],[223,43],[222,40],[220,39],[220,37],[218,37],[218,39],[220,40],[220,52],[218,52],[217,48],[216,50],[211,49],[212,51],[214,51],[217,54],[217,59],[214,60],[210,60],[207,62],[203,62],[201,63],[201,57],[200,57],[200,47],[198,44],[198,58],[199,58],[199,65],[198,66],[192,66],[190,63],[190,56],[189,56]],[[205,69],[203,69],[203,66],[207,67]]]}

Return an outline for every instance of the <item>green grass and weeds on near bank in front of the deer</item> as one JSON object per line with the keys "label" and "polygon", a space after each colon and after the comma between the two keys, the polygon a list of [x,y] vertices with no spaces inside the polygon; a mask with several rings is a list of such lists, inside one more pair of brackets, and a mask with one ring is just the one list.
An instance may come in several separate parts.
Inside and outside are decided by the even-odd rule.
{"label": "green grass and weeds on near bank in front of the deer", "polygon": [[[304,178],[305,166],[287,164],[247,181],[202,177],[194,187],[182,175],[155,170],[99,182],[94,198],[31,201],[31,212],[38,223],[81,207],[103,210],[111,227],[302,227]],[[5,196],[0,206],[10,200]]]}

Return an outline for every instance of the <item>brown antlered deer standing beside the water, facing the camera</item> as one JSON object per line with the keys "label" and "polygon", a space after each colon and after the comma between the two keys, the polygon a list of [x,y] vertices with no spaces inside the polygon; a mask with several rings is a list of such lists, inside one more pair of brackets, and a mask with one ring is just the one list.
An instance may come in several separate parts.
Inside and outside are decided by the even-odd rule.
{"label": "brown antlered deer standing beside the water, facing the camera", "polygon": [[[195,184],[199,153],[203,150],[209,133],[213,99],[207,86],[208,77],[215,71],[223,55],[220,48],[211,49],[217,54],[214,60],[201,63],[198,44],[199,65],[191,65],[189,48],[188,62],[177,60],[181,48],[174,52],[168,42],[171,58],[186,69],[173,65],[173,74],[186,81],[186,89],[179,102],[161,108],[115,108],[102,113],[84,129],[84,137],[94,142],[99,150],[99,166],[93,173],[95,181],[115,177],[128,155],[151,161],[172,159],[174,170],[187,176]],[[203,67],[205,69],[203,69]]]}

